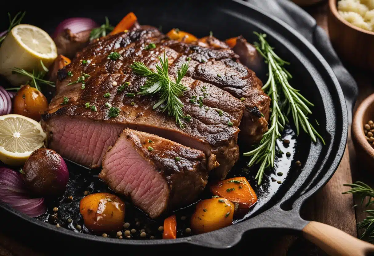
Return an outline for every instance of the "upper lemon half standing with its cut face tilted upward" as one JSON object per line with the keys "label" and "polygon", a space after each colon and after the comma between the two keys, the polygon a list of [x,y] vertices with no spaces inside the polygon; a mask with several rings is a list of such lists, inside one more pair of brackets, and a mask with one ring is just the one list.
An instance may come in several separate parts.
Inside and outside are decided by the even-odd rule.
{"label": "upper lemon half standing with its cut face tilted upward", "polygon": [[40,61],[49,67],[57,57],[57,48],[52,38],[41,28],[19,24],[12,28],[0,46],[0,74],[13,85],[24,83],[30,78],[12,74],[10,68],[26,71],[42,71]]}

